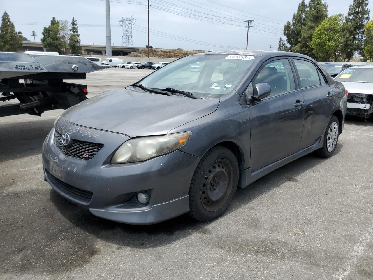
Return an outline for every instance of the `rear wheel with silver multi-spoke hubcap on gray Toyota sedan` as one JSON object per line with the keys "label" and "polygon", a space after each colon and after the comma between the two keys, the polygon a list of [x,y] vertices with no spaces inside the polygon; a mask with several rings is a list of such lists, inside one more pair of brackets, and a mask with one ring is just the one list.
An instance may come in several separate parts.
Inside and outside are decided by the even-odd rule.
{"label": "rear wheel with silver multi-spoke hubcap on gray Toyota sedan", "polygon": [[332,156],[338,144],[338,137],[339,121],[336,116],[332,116],[324,134],[324,146],[316,151],[317,155],[322,158],[329,158]]}

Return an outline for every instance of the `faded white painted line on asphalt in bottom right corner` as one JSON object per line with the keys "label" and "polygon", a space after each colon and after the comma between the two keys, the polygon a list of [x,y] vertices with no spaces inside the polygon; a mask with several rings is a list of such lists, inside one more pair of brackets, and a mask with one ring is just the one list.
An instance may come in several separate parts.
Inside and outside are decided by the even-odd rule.
{"label": "faded white painted line on asphalt in bottom right corner", "polygon": [[358,258],[364,252],[365,246],[372,239],[372,233],[373,222],[364,235],[360,237],[359,242],[355,245],[352,252],[348,254],[347,261],[343,264],[342,269],[333,275],[334,279],[344,280],[351,273],[352,266],[358,261]]}

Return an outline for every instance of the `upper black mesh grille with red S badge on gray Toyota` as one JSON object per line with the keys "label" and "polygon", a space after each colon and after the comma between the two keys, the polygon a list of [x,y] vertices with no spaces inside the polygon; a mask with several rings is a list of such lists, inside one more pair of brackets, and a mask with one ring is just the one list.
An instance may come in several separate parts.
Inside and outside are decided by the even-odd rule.
{"label": "upper black mesh grille with red S badge on gray Toyota", "polygon": [[86,141],[80,141],[71,139],[71,146],[65,146],[62,144],[62,134],[57,130],[54,133],[54,144],[64,153],[66,156],[72,158],[84,159],[89,161],[93,158],[104,146],[103,144],[91,143]]}

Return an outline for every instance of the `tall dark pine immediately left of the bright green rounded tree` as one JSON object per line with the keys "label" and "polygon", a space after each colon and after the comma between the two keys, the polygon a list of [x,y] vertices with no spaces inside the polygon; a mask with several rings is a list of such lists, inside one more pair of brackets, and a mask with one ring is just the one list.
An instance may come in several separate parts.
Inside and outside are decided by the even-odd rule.
{"label": "tall dark pine immediately left of the bright green rounded tree", "polygon": [[301,29],[301,38],[299,44],[292,48],[293,52],[313,56],[311,40],[315,28],[327,18],[327,4],[323,0],[310,0],[307,11],[304,16],[304,25]]}

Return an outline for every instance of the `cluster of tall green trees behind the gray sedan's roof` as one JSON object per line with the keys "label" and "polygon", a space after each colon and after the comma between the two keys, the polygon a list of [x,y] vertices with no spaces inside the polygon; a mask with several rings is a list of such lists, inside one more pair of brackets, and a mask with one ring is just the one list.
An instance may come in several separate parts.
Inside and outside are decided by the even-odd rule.
{"label": "cluster of tall green trees behind the gray sedan's roof", "polygon": [[353,0],[346,16],[328,17],[323,0],[302,0],[292,22],[283,29],[278,50],[297,52],[322,61],[347,60],[355,53],[373,56],[373,21],[369,21],[368,0]]}

